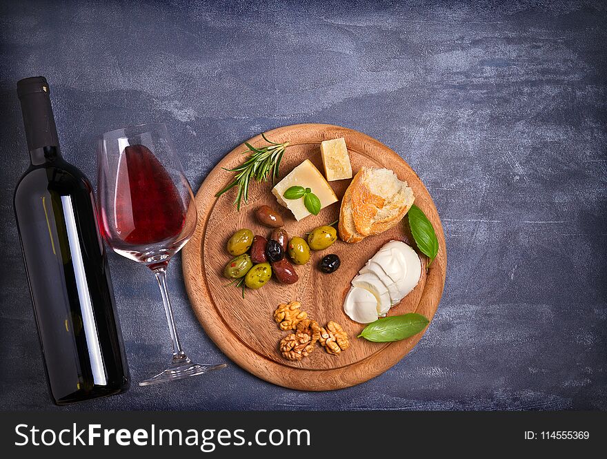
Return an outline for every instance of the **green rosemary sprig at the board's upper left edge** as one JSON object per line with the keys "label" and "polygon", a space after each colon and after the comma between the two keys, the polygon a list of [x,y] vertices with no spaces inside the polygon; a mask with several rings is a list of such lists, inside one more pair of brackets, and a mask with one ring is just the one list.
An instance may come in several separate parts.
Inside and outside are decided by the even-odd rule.
{"label": "green rosemary sprig at the board's upper left edge", "polygon": [[272,177],[272,184],[276,182],[282,156],[289,145],[289,142],[277,144],[277,142],[270,141],[263,133],[261,133],[261,137],[270,145],[257,148],[248,142],[245,142],[244,144],[247,146],[248,150],[244,151],[243,155],[249,153],[246,161],[233,169],[224,168],[225,170],[234,172],[235,175],[232,182],[215,195],[215,197],[219,197],[223,195],[223,193],[226,193],[226,191],[237,186],[238,193],[234,201],[237,211],[240,211],[240,204],[243,199],[245,204],[248,203],[249,184],[252,180],[256,180],[257,182],[268,182],[268,178]]}

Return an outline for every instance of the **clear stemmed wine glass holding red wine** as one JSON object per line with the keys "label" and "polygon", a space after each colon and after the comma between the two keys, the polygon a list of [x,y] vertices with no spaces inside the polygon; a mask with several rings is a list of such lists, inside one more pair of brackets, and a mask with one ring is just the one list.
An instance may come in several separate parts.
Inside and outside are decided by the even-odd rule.
{"label": "clear stemmed wine glass holding red wine", "polygon": [[112,249],[146,264],[156,275],[172,342],[166,370],[140,386],[179,380],[226,367],[193,363],[183,351],[166,286],[171,257],[190,240],[197,212],[164,124],[112,130],[99,139],[99,215]]}

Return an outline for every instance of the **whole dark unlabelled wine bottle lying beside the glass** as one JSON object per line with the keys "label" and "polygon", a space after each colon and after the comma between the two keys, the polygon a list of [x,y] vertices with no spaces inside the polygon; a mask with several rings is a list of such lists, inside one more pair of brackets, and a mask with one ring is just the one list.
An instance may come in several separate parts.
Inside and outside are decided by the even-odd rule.
{"label": "whole dark unlabelled wine bottle lying beside the glass", "polygon": [[46,79],[21,79],[17,95],[31,164],[14,213],[52,399],[121,393],[130,378],[92,186],[61,156]]}

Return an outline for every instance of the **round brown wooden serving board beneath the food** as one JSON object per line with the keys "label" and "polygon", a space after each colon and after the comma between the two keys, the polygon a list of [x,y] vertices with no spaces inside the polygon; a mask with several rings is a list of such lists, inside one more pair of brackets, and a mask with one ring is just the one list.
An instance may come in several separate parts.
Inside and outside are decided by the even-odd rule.
{"label": "round brown wooden serving board beneath the food", "polygon": [[[415,204],[432,222],[439,240],[439,253],[428,274],[389,315],[417,312],[431,319],[437,310],[443,292],[446,275],[446,251],[443,228],[439,215],[426,187],[410,166],[399,155],[379,141],[355,130],[327,124],[297,124],[277,128],[267,133],[276,142],[289,141],[280,166],[280,178],[308,158],[324,172],[320,155],[323,140],[344,137],[350,154],[352,171],[361,166],[390,168],[399,179],[406,180],[415,193]],[[261,135],[249,143],[264,146]],[[342,309],[344,297],[354,277],[367,260],[389,240],[404,240],[415,247],[407,219],[395,228],[380,235],[367,237],[357,244],[338,240],[325,251],[312,253],[305,266],[296,266],[299,282],[281,285],[272,278],[263,288],[241,290],[226,286],[222,277],[223,267],[230,261],[226,242],[235,231],[250,228],[255,234],[268,237],[270,229],[261,226],[254,211],[262,204],[275,208],[283,216],[284,228],[290,235],[305,237],[305,233],[317,226],[334,222],[339,217],[339,202],[324,208],[319,215],[310,215],[297,222],[288,209],[280,206],[270,193],[270,183],[254,183],[250,186],[248,205],[240,212],[232,204],[236,188],[216,198],[215,193],[228,184],[232,173],[223,168],[241,164],[241,145],[232,150],[206,177],[196,195],[198,224],[196,232],[183,250],[183,276],[192,307],[206,333],[230,359],[259,378],[283,387],[307,391],[341,389],[359,384],[383,373],[401,360],[421,338],[419,333],[411,338],[392,343],[368,342],[356,338],[364,325],[353,322]],[[341,199],[350,180],[329,182]],[[341,267],[332,274],[319,271],[317,264],[324,255],[337,253]],[[426,257],[421,255],[422,264]],[[425,270],[424,270],[425,271]],[[280,340],[290,332],[281,331],[273,320],[278,304],[298,300],[301,309],[317,320],[321,326],[329,320],[339,322],[348,332],[350,349],[339,355],[330,355],[321,346],[308,358],[299,362],[284,359],[278,350]]]}

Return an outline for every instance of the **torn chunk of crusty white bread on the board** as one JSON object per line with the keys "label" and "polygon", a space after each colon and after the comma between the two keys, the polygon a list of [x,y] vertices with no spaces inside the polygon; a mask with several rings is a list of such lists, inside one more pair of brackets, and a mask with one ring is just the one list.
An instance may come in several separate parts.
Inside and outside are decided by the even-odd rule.
{"label": "torn chunk of crusty white bread on the board", "polygon": [[359,242],[392,228],[411,208],[415,197],[394,171],[363,167],[341,201],[339,237]]}

